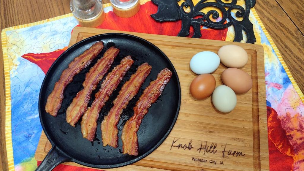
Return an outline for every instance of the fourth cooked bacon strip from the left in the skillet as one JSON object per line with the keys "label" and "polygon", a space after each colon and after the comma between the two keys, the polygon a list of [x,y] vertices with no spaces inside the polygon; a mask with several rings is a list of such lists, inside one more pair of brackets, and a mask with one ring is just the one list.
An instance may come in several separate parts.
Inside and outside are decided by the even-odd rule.
{"label": "fourth cooked bacon strip from the left in the skillet", "polygon": [[137,94],[141,85],[150,74],[151,68],[152,67],[148,63],[140,65],[137,68],[137,71],[131,75],[130,80],[127,81],[119,91],[119,95],[113,101],[114,106],[101,123],[103,146],[110,145],[117,148],[117,124],[120,115],[123,112],[123,109],[128,105],[129,101]]}

